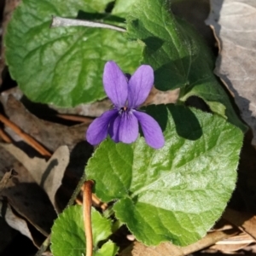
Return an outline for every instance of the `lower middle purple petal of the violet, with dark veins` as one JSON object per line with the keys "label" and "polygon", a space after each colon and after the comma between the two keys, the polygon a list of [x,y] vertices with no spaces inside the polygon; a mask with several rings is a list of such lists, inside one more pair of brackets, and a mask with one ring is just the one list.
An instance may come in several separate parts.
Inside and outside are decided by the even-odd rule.
{"label": "lower middle purple petal of the violet, with dark veins", "polygon": [[124,112],[113,121],[113,136],[115,143],[133,143],[138,136],[137,118],[132,112]]}

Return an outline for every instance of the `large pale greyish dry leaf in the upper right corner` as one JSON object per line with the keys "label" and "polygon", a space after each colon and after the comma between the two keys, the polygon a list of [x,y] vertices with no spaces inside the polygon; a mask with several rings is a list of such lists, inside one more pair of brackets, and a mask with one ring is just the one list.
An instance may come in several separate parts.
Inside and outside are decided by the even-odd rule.
{"label": "large pale greyish dry leaf in the upper right corner", "polygon": [[235,96],[256,145],[256,1],[211,0],[211,5],[207,24],[220,47],[215,73]]}

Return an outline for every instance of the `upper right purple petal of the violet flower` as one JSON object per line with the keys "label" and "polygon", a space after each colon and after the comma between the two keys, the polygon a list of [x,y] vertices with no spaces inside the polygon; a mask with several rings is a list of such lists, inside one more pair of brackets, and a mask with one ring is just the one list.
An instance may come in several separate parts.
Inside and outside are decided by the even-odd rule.
{"label": "upper right purple petal of the violet flower", "polygon": [[154,84],[154,71],[148,65],[142,65],[128,82],[128,107],[137,108],[148,97]]}

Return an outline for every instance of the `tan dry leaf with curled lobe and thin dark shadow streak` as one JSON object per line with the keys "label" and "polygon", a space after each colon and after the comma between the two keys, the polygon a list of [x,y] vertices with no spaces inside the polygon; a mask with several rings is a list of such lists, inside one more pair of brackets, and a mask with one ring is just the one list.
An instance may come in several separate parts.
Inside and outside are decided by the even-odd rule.
{"label": "tan dry leaf with curled lobe and thin dark shadow streak", "polygon": [[20,161],[26,170],[30,172],[36,183],[44,189],[49,196],[49,201],[55,207],[56,212],[61,212],[55,201],[55,194],[61,186],[61,180],[69,163],[69,151],[67,146],[61,146],[55,151],[55,154],[46,161],[34,157],[30,158],[20,148],[13,144],[0,144],[10,154],[13,154]]}

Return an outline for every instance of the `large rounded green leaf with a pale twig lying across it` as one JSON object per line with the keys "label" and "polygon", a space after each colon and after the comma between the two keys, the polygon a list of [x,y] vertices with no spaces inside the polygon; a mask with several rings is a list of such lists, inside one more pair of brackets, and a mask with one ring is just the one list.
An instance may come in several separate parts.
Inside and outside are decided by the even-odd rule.
{"label": "large rounded green leaf with a pale twig lying across it", "polygon": [[124,33],[84,26],[49,28],[52,15],[114,20],[103,13],[108,2],[24,0],[15,9],[5,36],[6,61],[32,101],[73,107],[102,99],[102,72],[109,60],[126,73],[134,72],[141,46],[128,42]]}

